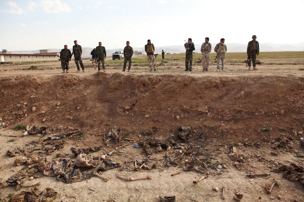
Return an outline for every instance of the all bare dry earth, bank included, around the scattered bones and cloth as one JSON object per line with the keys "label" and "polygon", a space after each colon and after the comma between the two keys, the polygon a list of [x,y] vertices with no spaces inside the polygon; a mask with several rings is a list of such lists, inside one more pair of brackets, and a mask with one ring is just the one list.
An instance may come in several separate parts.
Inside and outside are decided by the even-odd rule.
{"label": "all bare dry earth, bank included, around the scattered bones and cloth", "polygon": [[[262,63],[267,63],[266,60]],[[291,60],[298,64],[303,62],[301,58],[288,59],[289,62]],[[77,201],[110,199],[159,201],[159,195],[176,195],[177,201],[192,201],[191,198],[198,201],[235,201],[233,195],[237,192],[244,194],[241,201],[248,202],[272,201],[271,197],[277,201],[278,195],[282,197],[282,201],[294,201],[294,199],[304,201],[303,184],[299,181],[288,181],[282,173],[271,172],[271,163],[258,161],[254,157],[258,154],[286,165],[290,162],[304,161],[294,156],[295,153],[304,153],[303,147],[299,144],[302,136],[294,134],[294,131],[299,132],[304,129],[304,106],[302,106],[304,72],[299,70],[303,68],[303,65],[262,64],[257,66],[258,71],[247,71],[245,64],[227,63],[225,64],[226,72],[216,72],[216,66],[211,65],[210,69],[213,70],[203,73],[202,69],[199,69],[201,66],[195,64],[194,71],[189,74],[183,71],[185,66],[181,61],[178,64],[165,63],[166,66],[158,64],[160,66],[157,72],[148,72],[145,66],[133,66],[130,73],[123,73],[121,72],[122,65],[114,64],[106,66],[107,72],[96,73],[97,70],[89,67],[92,63],[88,60],[84,62],[88,65],[85,73],[75,73],[76,68],[72,61],[71,66],[74,68],[71,68],[69,74],[62,74],[60,69],[48,70],[54,68],[55,65],[58,67],[59,62],[43,63],[43,65],[41,63],[23,64],[23,67],[22,65],[0,66],[0,69],[4,70],[0,71],[2,88],[0,117],[3,123],[8,124],[7,127],[0,129],[0,177],[2,179],[6,180],[24,167],[13,164],[15,157],[7,156],[6,151],[12,147],[27,147],[26,143],[39,138],[37,136],[22,137],[22,130],[11,129],[17,124],[47,125],[50,128],[59,125],[81,128],[82,137],[65,138],[67,143],[64,148],[53,155],[33,152],[35,156],[46,156],[49,161],[57,159],[57,153],[69,153],[69,156],[74,159],[70,148],[75,147],[76,144],[79,144],[80,148],[87,147],[86,144],[92,146],[103,144],[103,138],[95,134],[109,132],[115,125],[123,129],[123,136],[134,139],[136,143],[152,137],[144,135],[140,137],[140,131],[149,131],[151,127],[158,128],[153,137],[175,140],[179,126],[190,126],[192,129],[190,141],[179,143],[186,146],[191,144],[198,150],[217,148],[218,146],[213,146],[216,144],[235,144],[240,154],[247,154],[247,159],[244,160],[247,163],[246,169],[237,170],[233,159],[229,157],[229,147],[225,149],[224,146],[219,146],[219,150],[210,150],[208,155],[220,162],[227,162],[227,167],[222,174],[209,175],[198,184],[192,184],[192,181],[201,178],[202,174],[194,170],[185,171],[183,167],[179,167],[184,165],[186,159],[192,160],[189,154],[184,155],[178,162],[180,165],[176,167],[164,166],[164,160],[161,160],[161,166],[151,171],[127,172],[118,171],[118,169],[105,171],[102,176],[108,177],[110,179],[108,182],[92,177],[87,182],[65,184],[57,181],[56,177],[43,177],[26,181],[24,184],[41,181],[40,190],[53,187],[58,192],[55,200],[58,202],[61,201],[61,197],[64,200],[74,201],[73,198],[68,199],[65,196],[66,193],[77,194]],[[280,62],[283,63],[283,60],[278,61]],[[46,70],[21,70],[31,65],[44,67]],[[27,103],[24,104],[25,102]],[[60,105],[57,108],[58,102]],[[31,111],[33,106],[36,107],[35,112]],[[125,106],[130,106],[128,115],[126,115]],[[41,111],[45,113],[41,114]],[[177,115],[180,117],[179,120],[176,119]],[[71,117],[73,117],[72,120]],[[42,121],[43,118],[46,118],[45,122]],[[269,132],[264,132],[264,128],[269,128]],[[271,144],[275,138],[282,135],[293,138],[293,149],[271,150]],[[243,143],[246,138],[251,143],[260,142],[261,147],[244,147],[237,144]],[[122,144],[124,143],[114,145],[112,142],[109,147],[105,145],[102,150],[91,155],[100,156],[103,153],[109,153]],[[126,161],[138,161],[147,157],[142,147],[134,148],[133,145],[121,148],[122,153],[117,151],[110,158],[125,166]],[[174,149],[166,151],[163,148],[163,151],[158,153],[155,148],[153,149],[150,159],[154,157],[164,159],[166,153],[175,158],[180,155],[175,155]],[[270,152],[273,151],[279,155],[271,155]],[[212,167],[218,163],[216,159],[206,162],[214,173],[217,173]],[[196,165],[199,166],[197,161]],[[182,173],[171,176],[177,171]],[[246,178],[248,173],[267,173],[271,174],[271,177],[249,179]],[[123,181],[116,175],[125,177],[150,175],[153,179]],[[273,178],[278,180],[278,186],[274,187],[272,194],[267,194],[264,187],[271,185]],[[212,190],[213,186],[219,187],[220,191]],[[221,198],[223,186],[228,188],[225,200]],[[66,190],[63,190],[64,187]],[[77,189],[72,189],[75,187]],[[19,192],[14,186],[9,186],[2,191],[1,196]]]}

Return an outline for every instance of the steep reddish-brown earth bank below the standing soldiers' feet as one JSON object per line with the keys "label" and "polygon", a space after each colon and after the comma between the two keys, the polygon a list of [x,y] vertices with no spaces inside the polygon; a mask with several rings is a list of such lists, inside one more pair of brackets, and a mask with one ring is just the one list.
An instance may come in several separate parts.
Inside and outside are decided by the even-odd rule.
{"label": "steep reddish-brown earth bank below the standing soldiers' feet", "polygon": [[[271,121],[268,124],[264,119],[296,125],[303,122],[303,78],[297,77],[102,72],[3,76],[0,85],[0,116],[9,126],[62,123],[91,131],[109,131],[113,125],[130,131],[157,126],[166,133],[181,124],[195,128],[212,123],[221,132],[209,135],[234,138],[263,135],[262,128],[271,127]],[[238,122],[242,122],[241,128],[236,130]],[[248,125],[256,129],[242,129]],[[273,123],[274,127],[284,125]]]}

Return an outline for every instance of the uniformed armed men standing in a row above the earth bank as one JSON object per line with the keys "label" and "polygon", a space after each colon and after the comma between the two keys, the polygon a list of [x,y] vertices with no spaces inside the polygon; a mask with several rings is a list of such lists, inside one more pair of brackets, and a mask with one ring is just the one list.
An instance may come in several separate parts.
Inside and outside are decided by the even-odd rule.
{"label": "uniformed armed men standing in a row above the earth bank", "polygon": [[[256,41],[257,36],[252,36],[252,41],[248,42],[247,46],[247,65],[248,70],[251,68],[251,62],[253,64],[253,70],[258,70],[256,68],[256,58],[260,53],[260,47],[259,42]],[[74,60],[77,66],[77,72],[80,72],[79,65],[82,68],[82,71],[85,72],[85,67],[83,65],[81,54],[82,54],[82,48],[81,45],[78,45],[77,40],[74,41],[73,46],[73,52],[69,49],[67,49],[67,45],[64,45],[64,49],[60,51],[60,61],[61,61],[61,67],[62,67],[62,73],[65,73],[65,71],[68,73],[69,70],[69,61],[71,61],[72,55],[74,54]],[[195,50],[194,43],[192,42],[191,38],[188,38],[188,43],[184,44],[186,49],[186,57],[185,57],[185,71],[192,71],[192,60],[193,55],[192,51]],[[209,64],[210,64],[210,52],[212,49],[211,43],[209,43],[209,38],[205,38],[205,42],[201,46],[201,53],[202,53],[202,67],[203,71],[209,71]],[[150,71],[156,71],[156,63],[155,63],[155,55],[154,55],[154,44],[151,43],[151,40],[148,39],[147,44],[145,45],[145,51],[147,53],[147,59],[148,64],[150,67]],[[227,52],[227,46],[225,45],[225,39],[221,38],[220,42],[216,44],[214,48],[214,52],[216,52],[216,58],[217,58],[217,69],[216,71],[219,71],[219,63],[222,61],[222,71],[225,71],[225,58],[226,58],[226,52]],[[162,50],[161,55],[162,59],[164,59],[164,50]],[[105,72],[105,59],[106,59],[106,51],[105,47],[102,46],[102,43],[99,42],[98,46],[94,48],[91,52],[92,55],[92,64],[96,69],[96,66],[98,67],[98,71],[100,71],[100,63],[102,64],[102,69]],[[126,42],[126,47],[123,49],[123,55],[125,57],[124,63],[123,63],[123,71],[126,71],[126,65],[127,62],[129,62],[128,71],[131,69],[132,64],[132,56],[133,56],[133,48],[130,46],[130,41]]]}

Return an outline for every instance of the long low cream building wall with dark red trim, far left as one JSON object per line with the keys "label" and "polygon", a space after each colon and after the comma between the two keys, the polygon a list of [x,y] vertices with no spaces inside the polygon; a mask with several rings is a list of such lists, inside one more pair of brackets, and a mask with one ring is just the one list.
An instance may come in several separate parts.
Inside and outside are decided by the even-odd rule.
{"label": "long low cream building wall with dark red trim, far left", "polygon": [[26,62],[26,61],[56,61],[57,55],[39,54],[0,54],[1,62]]}

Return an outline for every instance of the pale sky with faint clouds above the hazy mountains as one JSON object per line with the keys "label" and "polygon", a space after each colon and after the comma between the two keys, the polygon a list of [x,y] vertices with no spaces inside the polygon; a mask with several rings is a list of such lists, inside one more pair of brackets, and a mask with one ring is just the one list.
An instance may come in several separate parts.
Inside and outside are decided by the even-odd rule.
{"label": "pale sky with faint clouds above the hazy mountains", "polygon": [[0,0],[0,49],[303,42],[303,0]]}

